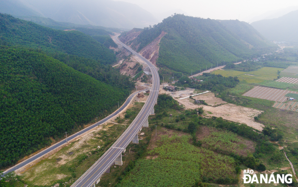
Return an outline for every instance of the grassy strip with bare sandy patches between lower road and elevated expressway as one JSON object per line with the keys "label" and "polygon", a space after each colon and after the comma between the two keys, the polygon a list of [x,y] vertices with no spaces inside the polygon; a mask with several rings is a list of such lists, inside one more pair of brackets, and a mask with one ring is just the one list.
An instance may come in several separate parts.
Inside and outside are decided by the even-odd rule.
{"label": "grassy strip with bare sandy patches between lower road and elevated expressway", "polygon": [[[104,130],[89,134],[94,139],[85,140],[82,137],[49,158],[40,161],[21,175],[22,181],[29,187],[52,186],[56,183],[69,187],[104,154],[126,129],[124,125],[103,128]],[[97,146],[100,148],[98,149]]]}

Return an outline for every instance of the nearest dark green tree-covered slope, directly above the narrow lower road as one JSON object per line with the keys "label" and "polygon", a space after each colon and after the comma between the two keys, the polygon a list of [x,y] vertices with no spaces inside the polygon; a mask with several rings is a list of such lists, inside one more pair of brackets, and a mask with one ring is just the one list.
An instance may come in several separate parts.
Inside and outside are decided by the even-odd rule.
{"label": "nearest dark green tree-covered slope, directly above the narrow lower road", "polygon": [[0,166],[105,116],[128,92],[34,50],[0,48]]}

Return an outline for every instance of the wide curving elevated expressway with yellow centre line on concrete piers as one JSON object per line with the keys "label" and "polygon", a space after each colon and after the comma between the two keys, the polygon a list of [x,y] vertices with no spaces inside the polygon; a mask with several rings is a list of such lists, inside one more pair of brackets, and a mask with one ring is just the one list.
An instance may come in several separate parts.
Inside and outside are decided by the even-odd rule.
{"label": "wide curving elevated expressway with yellow centre line on concrete piers", "polygon": [[[143,123],[147,120],[151,110],[154,108],[155,102],[157,101],[159,92],[159,75],[155,66],[145,59],[143,56],[139,55],[128,46],[123,44],[118,40],[118,36],[115,37],[116,41],[129,50],[133,55],[138,56],[144,62],[147,63],[152,72],[152,87],[150,90],[149,97],[141,109],[140,113],[136,116],[129,127],[124,131],[124,133],[118,138],[118,140],[102,155],[92,167],[90,167],[76,182],[74,182],[71,187],[90,187],[95,185],[100,177],[105,173],[105,171],[111,167],[114,161],[120,156],[125,148],[133,140],[135,135],[143,127]],[[122,160],[122,159],[121,159]]]}

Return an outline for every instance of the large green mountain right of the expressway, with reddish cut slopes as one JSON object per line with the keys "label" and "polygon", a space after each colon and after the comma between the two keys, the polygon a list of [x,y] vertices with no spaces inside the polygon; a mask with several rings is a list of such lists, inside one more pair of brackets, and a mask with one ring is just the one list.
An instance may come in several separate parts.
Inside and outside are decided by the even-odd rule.
{"label": "large green mountain right of the expressway, with reddish cut slopes", "polygon": [[[227,62],[240,62],[247,55],[257,56],[263,50],[275,49],[271,43],[245,22],[211,20],[175,14],[153,27],[145,28],[137,37],[121,34],[123,42],[140,51],[162,32],[157,65],[191,74]],[[125,39],[124,39],[125,38]],[[132,38],[126,41],[127,38]],[[262,52],[260,52],[262,51]]]}

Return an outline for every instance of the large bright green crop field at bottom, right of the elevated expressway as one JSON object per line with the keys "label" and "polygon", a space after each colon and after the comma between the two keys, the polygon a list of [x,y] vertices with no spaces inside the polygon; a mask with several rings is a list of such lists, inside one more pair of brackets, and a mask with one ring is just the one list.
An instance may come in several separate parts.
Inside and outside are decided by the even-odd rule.
{"label": "large bright green crop field at bottom, right of the elevated expressway", "polygon": [[[156,139],[156,138],[155,138]],[[191,186],[196,178],[228,177],[237,181],[235,160],[189,143],[190,135],[160,135],[150,146],[149,157],[136,161],[117,186]]]}

